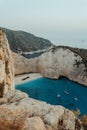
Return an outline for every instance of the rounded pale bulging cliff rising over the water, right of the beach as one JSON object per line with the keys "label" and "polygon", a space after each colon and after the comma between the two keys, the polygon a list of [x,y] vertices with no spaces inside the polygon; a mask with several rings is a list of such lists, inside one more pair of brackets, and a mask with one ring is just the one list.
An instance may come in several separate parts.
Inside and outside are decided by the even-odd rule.
{"label": "rounded pale bulging cliff rising over the water, right of the beach", "polygon": [[87,67],[80,54],[67,47],[50,49],[39,57],[38,70],[43,76],[70,80],[87,85]]}

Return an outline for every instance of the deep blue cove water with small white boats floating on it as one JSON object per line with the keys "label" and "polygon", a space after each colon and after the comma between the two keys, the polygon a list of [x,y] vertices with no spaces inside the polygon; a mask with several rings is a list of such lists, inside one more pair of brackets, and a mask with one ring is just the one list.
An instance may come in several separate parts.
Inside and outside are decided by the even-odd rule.
{"label": "deep blue cove water with small white boats floating on it", "polygon": [[34,99],[63,105],[71,110],[80,109],[81,114],[87,114],[87,88],[67,78],[39,78],[17,85],[16,89],[28,93]]}

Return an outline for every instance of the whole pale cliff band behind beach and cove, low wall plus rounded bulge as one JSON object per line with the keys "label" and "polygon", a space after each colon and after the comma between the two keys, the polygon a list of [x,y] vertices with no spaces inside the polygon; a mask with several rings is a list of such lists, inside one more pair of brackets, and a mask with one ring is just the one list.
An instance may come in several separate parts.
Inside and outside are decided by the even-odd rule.
{"label": "whole pale cliff band behind beach and cove, low wall plus rounded bulge", "polygon": [[80,49],[61,46],[31,59],[13,53],[15,74],[40,72],[44,77],[52,79],[65,76],[87,86],[87,58],[86,54],[85,58],[82,57],[83,51],[82,54],[80,51]]}

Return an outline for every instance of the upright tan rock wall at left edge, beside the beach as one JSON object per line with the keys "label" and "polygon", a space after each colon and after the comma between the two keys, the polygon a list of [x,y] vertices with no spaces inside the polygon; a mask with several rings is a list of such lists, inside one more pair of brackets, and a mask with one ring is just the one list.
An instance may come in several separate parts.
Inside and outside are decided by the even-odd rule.
{"label": "upright tan rock wall at left edge, beside the beach", "polygon": [[0,97],[14,88],[14,71],[8,40],[0,30]]}

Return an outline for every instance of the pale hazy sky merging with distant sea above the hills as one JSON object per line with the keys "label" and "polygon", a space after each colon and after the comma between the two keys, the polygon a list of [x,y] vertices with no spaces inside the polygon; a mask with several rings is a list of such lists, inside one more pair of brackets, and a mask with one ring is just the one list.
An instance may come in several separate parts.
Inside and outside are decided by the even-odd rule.
{"label": "pale hazy sky merging with distant sea above the hills", "polygon": [[87,48],[87,0],[0,0],[0,26]]}

